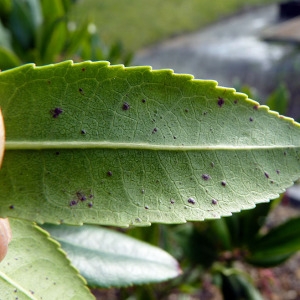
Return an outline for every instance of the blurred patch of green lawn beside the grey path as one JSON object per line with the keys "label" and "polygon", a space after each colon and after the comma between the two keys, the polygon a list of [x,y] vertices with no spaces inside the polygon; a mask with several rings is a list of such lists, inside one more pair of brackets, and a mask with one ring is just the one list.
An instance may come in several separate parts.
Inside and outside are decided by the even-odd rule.
{"label": "blurred patch of green lawn beside the grey path", "polygon": [[91,17],[107,44],[137,51],[170,36],[199,29],[245,7],[278,0],[82,0],[77,18]]}

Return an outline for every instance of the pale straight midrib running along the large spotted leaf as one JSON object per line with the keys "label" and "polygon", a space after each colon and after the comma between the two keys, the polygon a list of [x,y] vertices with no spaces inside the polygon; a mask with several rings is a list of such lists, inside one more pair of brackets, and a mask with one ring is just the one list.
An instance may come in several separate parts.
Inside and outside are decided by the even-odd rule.
{"label": "pale straight midrib running along the large spotted leaf", "polygon": [[47,149],[135,149],[165,151],[201,151],[201,150],[263,150],[299,148],[296,145],[160,145],[147,143],[117,143],[89,141],[54,141],[54,142],[6,142],[5,150],[47,150]]}

